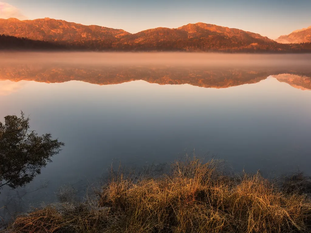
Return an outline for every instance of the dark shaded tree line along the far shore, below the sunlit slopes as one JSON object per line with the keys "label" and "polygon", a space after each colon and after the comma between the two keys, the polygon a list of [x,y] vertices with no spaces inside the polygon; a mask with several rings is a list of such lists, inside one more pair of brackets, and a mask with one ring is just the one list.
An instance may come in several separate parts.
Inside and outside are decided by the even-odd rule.
{"label": "dark shaded tree line along the far shore, below the sunlit slopes", "polygon": [[115,39],[94,39],[75,42],[47,42],[0,35],[0,49],[18,50],[78,50],[78,51],[188,51],[188,52],[311,52],[311,43],[281,44],[246,36],[243,40],[223,35],[202,38],[145,38],[136,42],[131,36]]}

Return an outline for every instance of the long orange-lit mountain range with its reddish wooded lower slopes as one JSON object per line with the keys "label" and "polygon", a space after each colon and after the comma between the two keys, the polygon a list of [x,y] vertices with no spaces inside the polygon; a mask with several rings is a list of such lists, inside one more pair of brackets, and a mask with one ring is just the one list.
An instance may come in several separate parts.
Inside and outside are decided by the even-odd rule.
{"label": "long orange-lit mountain range with its reddish wooded lower slopes", "polygon": [[[117,51],[301,52],[311,45],[280,44],[260,34],[212,24],[155,28],[135,34],[50,18],[0,19],[0,34],[51,43],[51,48]],[[40,47],[40,46],[39,46]]]}

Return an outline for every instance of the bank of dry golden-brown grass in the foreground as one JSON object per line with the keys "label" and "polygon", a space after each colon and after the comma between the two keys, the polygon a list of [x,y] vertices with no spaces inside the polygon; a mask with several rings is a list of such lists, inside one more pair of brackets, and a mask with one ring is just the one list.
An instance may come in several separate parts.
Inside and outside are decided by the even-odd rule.
{"label": "bank of dry golden-brown grass in the foreground", "polygon": [[110,177],[84,202],[20,215],[7,232],[309,232],[311,202],[257,174],[228,175],[221,161],[174,162],[161,176]]}

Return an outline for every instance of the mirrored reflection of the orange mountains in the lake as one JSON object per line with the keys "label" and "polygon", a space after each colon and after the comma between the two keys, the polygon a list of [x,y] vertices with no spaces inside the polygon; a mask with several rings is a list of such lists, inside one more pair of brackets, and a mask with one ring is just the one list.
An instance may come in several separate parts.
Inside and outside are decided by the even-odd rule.
{"label": "mirrored reflection of the orange mountains in the lake", "polygon": [[176,67],[96,67],[14,65],[0,67],[0,79],[62,83],[71,80],[97,85],[120,84],[134,80],[149,83],[189,84],[205,88],[227,88],[253,84],[274,76],[280,82],[299,89],[311,89],[311,68],[303,72],[286,68],[176,68]]}

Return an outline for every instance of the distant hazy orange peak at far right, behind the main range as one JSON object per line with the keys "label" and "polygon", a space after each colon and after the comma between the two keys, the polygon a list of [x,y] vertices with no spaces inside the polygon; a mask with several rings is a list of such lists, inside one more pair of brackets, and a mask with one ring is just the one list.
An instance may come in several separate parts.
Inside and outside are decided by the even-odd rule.
{"label": "distant hazy orange peak at far right, behind the main range", "polygon": [[311,26],[282,35],[275,41],[278,43],[311,43]]}

